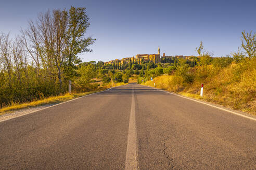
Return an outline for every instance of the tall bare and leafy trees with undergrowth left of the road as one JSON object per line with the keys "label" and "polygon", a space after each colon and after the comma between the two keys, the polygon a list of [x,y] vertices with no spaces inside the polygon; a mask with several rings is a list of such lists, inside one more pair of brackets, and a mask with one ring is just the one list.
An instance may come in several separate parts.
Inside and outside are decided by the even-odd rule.
{"label": "tall bare and leafy trees with undergrowth left of the road", "polygon": [[0,106],[27,102],[67,91],[78,76],[78,54],[90,51],[95,39],[85,37],[85,8],[40,13],[11,39],[0,35]]}

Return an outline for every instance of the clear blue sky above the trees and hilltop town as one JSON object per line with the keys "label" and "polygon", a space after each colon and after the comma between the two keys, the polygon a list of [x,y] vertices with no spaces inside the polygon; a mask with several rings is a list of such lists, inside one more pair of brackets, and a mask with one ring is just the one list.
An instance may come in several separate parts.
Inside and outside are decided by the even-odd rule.
{"label": "clear blue sky above the trees and hilltop town", "polygon": [[143,53],[195,55],[203,41],[214,56],[223,56],[241,45],[241,32],[256,30],[255,0],[215,1],[99,1],[99,0],[0,0],[0,32],[19,34],[37,13],[47,9],[86,7],[96,38],[93,52],[83,61],[109,61]]}

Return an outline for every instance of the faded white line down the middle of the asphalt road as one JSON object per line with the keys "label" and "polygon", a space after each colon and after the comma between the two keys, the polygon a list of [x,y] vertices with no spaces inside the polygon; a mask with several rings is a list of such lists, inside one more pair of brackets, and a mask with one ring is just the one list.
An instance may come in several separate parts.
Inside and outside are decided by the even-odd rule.
{"label": "faded white line down the middle of the asphalt road", "polygon": [[[132,85],[132,88],[133,88],[133,85]],[[129,130],[128,130],[128,137],[127,137],[125,170],[139,169],[137,158],[138,158],[138,148],[137,148],[137,132],[136,132],[136,119],[135,119],[135,98],[134,98],[134,90],[133,90]]]}

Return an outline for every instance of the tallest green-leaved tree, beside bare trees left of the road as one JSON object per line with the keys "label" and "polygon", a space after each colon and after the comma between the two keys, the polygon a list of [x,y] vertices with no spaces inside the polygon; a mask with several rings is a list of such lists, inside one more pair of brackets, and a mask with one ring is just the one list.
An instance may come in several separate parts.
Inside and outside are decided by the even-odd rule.
{"label": "tallest green-leaved tree, beside bare trees left of the road", "polygon": [[66,44],[64,73],[69,79],[76,75],[75,65],[81,62],[78,54],[92,51],[88,46],[92,45],[96,39],[85,36],[89,25],[89,18],[86,15],[85,8],[71,6],[68,13],[67,30],[63,33]]}

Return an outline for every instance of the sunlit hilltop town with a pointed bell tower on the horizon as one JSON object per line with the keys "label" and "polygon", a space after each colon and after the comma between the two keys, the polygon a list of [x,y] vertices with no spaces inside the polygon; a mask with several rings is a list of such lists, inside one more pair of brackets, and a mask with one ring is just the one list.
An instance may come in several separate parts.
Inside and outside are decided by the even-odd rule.
{"label": "sunlit hilltop town with a pointed bell tower on the horizon", "polygon": [[137,54],[132,57],[127,57],[127,58],[122,58],[121,60],[116,59],[116,60],[111,60],[108,62],[105,62],[106,64],[114,64],[114,63],[120,63],[120,64],[126,64],[129,62],[137,62],[137,63],[143,63],[144,62],[150,62],[150,63],[165,63],[166,61],[174,60],[174,59],[187,59],[187,60],[192,60],[195,58],[200,58],[200,56],[194,56],[194,55],[189,55],[189,56],[184,56],[184,55],[163,55],[161,56],[160,54],[160,48],[158,47],[158,53],[157,54]]}

